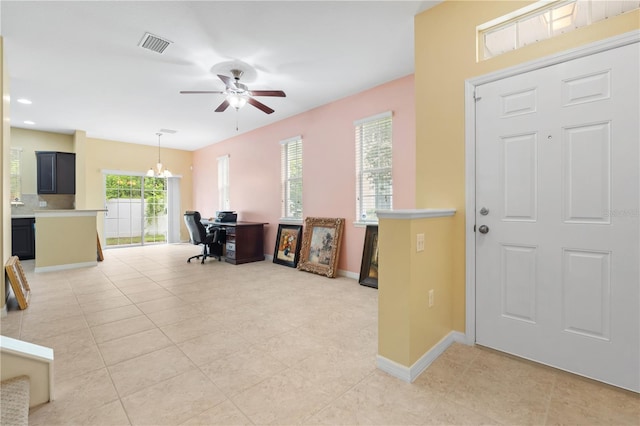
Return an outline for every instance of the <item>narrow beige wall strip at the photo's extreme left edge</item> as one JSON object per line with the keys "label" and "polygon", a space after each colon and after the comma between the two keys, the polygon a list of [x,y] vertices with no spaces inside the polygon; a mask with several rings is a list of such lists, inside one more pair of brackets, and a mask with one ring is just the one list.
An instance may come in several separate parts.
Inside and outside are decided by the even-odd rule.
{"label": "narrow beige wall strip at the photo's extreme left edge", "polygon": [[[2,116],[2,133],[0,133],[0,147],[2,149],[2,160],[0,161],[0,174],[2,176],[2,185],[0,185],[0,197],[2,197],[2,212],[0,213],[0,226],[2,226],[2,244],[0,245],[0,258],[2,259],[2,268],[11,256],[11,208],[9,197],[11,196],[10,173],[9,170],[9,142],[11,135],[9,134],[9,72],[7,64],[4,60],[3,39],[0,37],[0,76],[2,84],[2,102],[0,103]],[[5,274],[2,274],[0,281],[0,309],[5,308],[4,292],[5,292]]]}

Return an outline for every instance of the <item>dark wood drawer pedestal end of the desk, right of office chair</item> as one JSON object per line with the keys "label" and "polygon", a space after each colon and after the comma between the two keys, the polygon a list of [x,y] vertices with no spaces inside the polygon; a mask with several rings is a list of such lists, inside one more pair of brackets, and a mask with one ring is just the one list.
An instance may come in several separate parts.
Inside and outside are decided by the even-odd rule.
{"label": "dark wood drawer pedestal end of the desk, right of office chair", "polygon": [[225,261],[234,265],[264,260],[264,223],[225,224]]}

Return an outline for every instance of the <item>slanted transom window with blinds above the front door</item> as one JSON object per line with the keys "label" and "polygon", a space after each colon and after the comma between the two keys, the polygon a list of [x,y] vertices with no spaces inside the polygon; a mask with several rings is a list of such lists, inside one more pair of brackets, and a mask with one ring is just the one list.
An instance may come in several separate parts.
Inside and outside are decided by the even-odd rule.
{"label": "slanted transom window with blinds above the front door", "polygon": [[534,3],[479,26],[478,57],[489,59],[638,8],[638,0]]}

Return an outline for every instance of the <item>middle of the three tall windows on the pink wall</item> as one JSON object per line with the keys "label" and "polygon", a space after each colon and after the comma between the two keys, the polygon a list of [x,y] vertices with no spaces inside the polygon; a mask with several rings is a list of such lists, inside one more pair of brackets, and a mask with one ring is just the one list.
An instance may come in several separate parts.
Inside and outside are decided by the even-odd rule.
{"label": "middle of the three tall windows on the pink wall", "polygon": [[280,142],[282,217],[302,220],[302,136]]}

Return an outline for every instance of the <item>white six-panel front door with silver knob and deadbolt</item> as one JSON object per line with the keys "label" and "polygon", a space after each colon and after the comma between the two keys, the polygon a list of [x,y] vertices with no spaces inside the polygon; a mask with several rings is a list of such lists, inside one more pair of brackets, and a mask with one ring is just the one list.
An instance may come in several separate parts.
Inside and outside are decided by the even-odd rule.
{"label": "white six-panel front door with silver knob and deadbolt", "polygon": [[476,90],[476,342],[635,391],[639,50]]}

